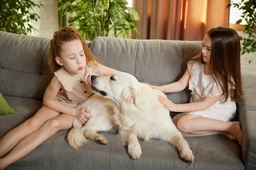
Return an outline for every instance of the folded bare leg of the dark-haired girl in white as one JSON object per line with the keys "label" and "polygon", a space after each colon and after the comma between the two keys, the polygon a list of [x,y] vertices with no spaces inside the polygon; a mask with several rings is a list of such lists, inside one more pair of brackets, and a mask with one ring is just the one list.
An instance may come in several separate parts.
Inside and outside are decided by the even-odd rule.
{"label": "folded bare leg of the dark-haired girl in white", "polygon": [[225,135],[230,139],[235,137],[242,144],[242,129],[238,121],[225,122],[196,115],[183,115],[174,124],[184,135]]}

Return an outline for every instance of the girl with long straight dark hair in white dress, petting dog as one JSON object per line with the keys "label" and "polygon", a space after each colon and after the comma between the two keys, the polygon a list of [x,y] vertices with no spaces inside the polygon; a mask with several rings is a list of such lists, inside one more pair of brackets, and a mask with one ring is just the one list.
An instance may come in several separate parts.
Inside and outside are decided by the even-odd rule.
{"label": "girl with long straight dark hair in white dress, petting dog", "polygon": [[236,104],[242,99],[240,39],[232,28],[208,31],[199,55],[188,62],[188,69],[178,81],[151,86],[164,93],[191,90],[190,103],[176,104],[159,96],[163,107],[182,112],[174,124],[184,136],[225,135],[241,145],[240,123],[234,121]]}

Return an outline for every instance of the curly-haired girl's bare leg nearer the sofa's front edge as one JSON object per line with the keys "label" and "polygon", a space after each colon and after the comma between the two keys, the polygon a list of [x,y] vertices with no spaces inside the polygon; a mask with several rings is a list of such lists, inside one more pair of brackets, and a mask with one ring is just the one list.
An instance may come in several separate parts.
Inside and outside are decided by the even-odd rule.
{"label": "curly-haired girl's bare leg nearer the sofa's front edge", "polygon": [[60,114],[57,117],[48,120],[41,126],[41,128],[24,137],[23,140],[18,142],[14,149],[9,152],[9,154],[6,154],[5,157],[0,159],[0,169],[5,169],[6,166],[9,166],[18,159],[26,156],[59,130],[69,129],[72,125],[72,115]]}

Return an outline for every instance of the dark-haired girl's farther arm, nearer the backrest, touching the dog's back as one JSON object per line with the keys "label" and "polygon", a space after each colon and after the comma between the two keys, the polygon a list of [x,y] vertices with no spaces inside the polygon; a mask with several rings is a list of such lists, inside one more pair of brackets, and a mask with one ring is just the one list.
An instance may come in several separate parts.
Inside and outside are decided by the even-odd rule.
{"label": "dark-haired girl's farther arm, nearer the backrest, touching the dog's back", "polygon": [[171,84],[166,84],[164,86],[151,86],[151,88],[157,89],[159,91],[163,91],[164,93],[183,91],[183,89],[185,89],[186,86],[188,86],[190,77],[191,76],[188,72],[188,69],[186,69],[186,72],[183,74],[181,79],[179,79],[178,81],[175,81]]}

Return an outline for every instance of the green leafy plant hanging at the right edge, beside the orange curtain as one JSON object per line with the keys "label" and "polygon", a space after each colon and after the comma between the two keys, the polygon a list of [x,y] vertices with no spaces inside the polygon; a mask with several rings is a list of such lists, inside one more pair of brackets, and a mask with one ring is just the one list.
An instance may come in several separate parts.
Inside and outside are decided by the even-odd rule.
{"label": "green leafy plant hanging at the right edge, beside the orange curtain", "polygon": [[[245,52],[256,52],[256,1],[255,0],[242,0],[240,3],[228,4],[227,8],[234,6],[239,10],[242,10],[242,19],[246,21],[244,33],[247,35],[247,38],[240,36],[242,40],[242,55]],[[236,21],[236,24],[240,24],[242,19]],[[249,60],[249,63],[252,60]]]}

